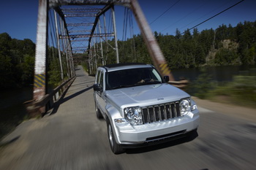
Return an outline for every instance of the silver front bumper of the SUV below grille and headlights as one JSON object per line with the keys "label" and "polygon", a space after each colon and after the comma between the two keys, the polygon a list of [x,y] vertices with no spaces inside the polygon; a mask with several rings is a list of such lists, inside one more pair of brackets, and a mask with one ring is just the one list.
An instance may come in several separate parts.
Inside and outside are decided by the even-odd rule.
{"label": "silver front bumper of the SUV below grille and headlights", "polygon": [[132,126],[129,123],[116,123],[116,142],[118,144],[143,144],[159,139],[187,134],[199,125],[199,113],[189,112],[184,117],[163,120],[155,123]]}

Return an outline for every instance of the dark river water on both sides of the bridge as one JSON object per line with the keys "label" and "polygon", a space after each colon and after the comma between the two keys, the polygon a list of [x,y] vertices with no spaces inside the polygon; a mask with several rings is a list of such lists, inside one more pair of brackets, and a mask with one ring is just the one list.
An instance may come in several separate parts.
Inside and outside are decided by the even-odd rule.
{"label": "dark river water on both sides of the bridge", "polygon": [[[249,70],[256,72],[255,66],[214,66],[201,69],[173,69],[175,80],[185,78],[190,82],[206,73],[216,82],[229,82],[234,75],[249,74]],[[15,128],[23,117],[26,116],[26,108],[23,102],[33,98],[33,87],[18,88],[15,90],[0,91],[0,139],[11,129]]]}

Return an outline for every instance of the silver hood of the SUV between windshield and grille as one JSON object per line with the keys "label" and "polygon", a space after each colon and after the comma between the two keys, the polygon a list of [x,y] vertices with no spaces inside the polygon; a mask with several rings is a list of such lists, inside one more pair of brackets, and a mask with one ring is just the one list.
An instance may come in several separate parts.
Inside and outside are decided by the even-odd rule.
{"label": "silver hood of the SUV between windshield and grille", "polygon": [[179,101],[189,94],[167,83],[156,85],[140,85],[131,88],[107,90],[106,96],[119,108],[129,106],[150,106]]}

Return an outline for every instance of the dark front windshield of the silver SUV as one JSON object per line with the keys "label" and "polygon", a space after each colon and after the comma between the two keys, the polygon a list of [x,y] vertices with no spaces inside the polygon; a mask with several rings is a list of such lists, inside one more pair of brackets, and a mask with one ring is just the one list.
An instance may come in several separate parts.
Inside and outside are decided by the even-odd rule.
{"label": "dark front windshield of the silver SUV", "polygon": [[106,74],[106,90],[156,83],[162,83],[162,78],[154,68],[125,69]]}

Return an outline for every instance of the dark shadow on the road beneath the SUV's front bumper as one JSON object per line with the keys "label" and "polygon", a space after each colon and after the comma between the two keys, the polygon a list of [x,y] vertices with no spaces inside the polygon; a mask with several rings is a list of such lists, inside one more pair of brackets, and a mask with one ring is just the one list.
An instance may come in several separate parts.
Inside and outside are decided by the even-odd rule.
{"label": "dark shadow on the road beneath the SUV's front bumper", "polygon": [[198,136],[197,131],[191,131],[187,136],[181,136],[179,139],[173,139],[173,140],[166,140],[162,141],[160,144],[150,145],[146,147],[139,147],[139,148],[129,148],[126,149],[127,154],[137,154],[137,153],[143,153],[143,152],[151,152],[154,150],[161,150],[167,147],[173,147],[178,144],[184,144],[187,142],[191,142],[192,140],[196,139]]}

